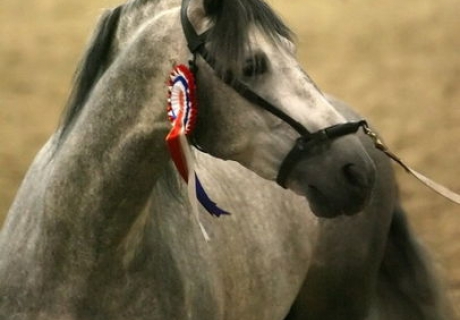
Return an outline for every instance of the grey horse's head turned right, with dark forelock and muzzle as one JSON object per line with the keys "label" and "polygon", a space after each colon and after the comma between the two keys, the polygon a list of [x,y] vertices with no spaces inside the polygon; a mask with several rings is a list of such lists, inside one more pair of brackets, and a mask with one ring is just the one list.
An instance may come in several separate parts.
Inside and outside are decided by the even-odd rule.
{"label": "grey horse's head turned right, with dark forelock and muzzle", "polygon": [[[263,2],[188,2],[182,4],[182,23],[191,26],[184,27],[185,36],[191,50],[201,50],[194,58],[200,104],[194,141],[199,148],[276,180],[299,138],[299,130],[285,118],[307,132],[346,123],[303,71],[289,29]],[[266,112],[259,100],[241,91],[284,117]],[[301,148],[284,170],[282,185],[306,196],[316,215],[351,215],[367,204],[375,167],[356,135],[315,139]]]}

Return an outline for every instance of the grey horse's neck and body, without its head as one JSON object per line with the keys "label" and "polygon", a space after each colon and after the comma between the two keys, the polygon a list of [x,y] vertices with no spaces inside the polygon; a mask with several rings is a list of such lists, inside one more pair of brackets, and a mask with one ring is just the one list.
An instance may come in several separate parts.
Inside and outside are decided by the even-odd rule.
{"label": "grey horse's neck and body, without its head", "polygon": [[164,79],[187,56],[173,41],[183,38],[176,5],[131,1],[101,19],[76,107],[2,229],[0,319],[442,319],[391,166],[361,134],[376,168],[372,197],[333,220],[256,170],[196,152],[200,178],[232,212],[203,212],[204,241],[164,143]]}

